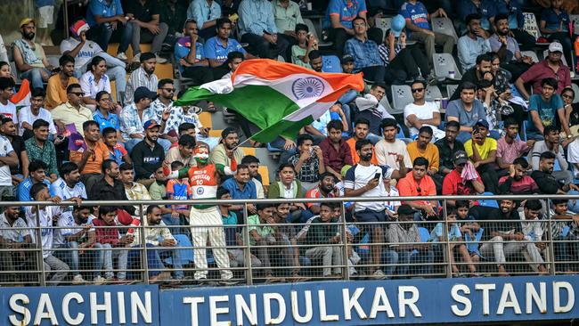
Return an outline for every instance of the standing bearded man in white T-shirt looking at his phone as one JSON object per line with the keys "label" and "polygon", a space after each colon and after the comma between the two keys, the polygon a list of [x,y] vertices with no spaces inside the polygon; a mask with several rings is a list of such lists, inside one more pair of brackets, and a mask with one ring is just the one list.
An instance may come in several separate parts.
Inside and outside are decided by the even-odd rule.
{"label": "standing bearded man in white T-shirt looking at his phone", "polygon": [[[390,179],[398,179],[406,175],[406,168],[402,166],[404,158],[397,156],[401,164],[400,170],[395,170],[389,166],[375,166],[371,163],[373,148],[369,140],[364,139],[355,143],[355,149],[360,156],[360,162],[351,167],[344,177],[344,195],[346,197],[389,197]],[[434,183],[433,183],[434,184]],[[370,222],[386,222],[386,215],[395,214],[389,210],[385,212],[386,203],[384,201],[364,201],[355,203],[355,221],[363,223],[363,229],[371,234],[371,278],[385,279],[386,274],[379,269],[384,260],[382,253],[382,243],[385,240],[384,224],[364,224]],[[384,262],[387,265],[396,262]]]}

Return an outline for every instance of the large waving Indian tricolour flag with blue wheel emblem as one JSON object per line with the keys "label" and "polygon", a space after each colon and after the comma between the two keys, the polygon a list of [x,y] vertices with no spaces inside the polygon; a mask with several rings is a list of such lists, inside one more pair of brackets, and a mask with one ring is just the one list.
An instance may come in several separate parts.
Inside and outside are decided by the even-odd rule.
{"label": "large waving Indian tricolour flag with blue wheel emblem", "polygon": [[294,138],[348,90],[363,90],[362,74],[317,73],[291,63],[256,59],[241,62],[232,78],[192,87],[175,105],[207,100],[236,110],[261,131],[251,139],[268,143]]}

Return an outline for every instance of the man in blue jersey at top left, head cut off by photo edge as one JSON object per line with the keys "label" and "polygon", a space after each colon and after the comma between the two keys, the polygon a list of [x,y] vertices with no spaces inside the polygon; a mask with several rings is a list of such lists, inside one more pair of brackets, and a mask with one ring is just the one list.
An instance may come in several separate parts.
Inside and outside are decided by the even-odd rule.
{"label": "man in blue jersey at top left, head cut off by photo edge", "polygon": [[125,52],[133,33],[132,29],[126,27],[128,20],[120,0],[91,0],[86,10],[86,23],[91,28],[87,37],[101,46],[102,51],[107,52],[110,37],[116,33],[120,38],[117,58],[126,61]]}

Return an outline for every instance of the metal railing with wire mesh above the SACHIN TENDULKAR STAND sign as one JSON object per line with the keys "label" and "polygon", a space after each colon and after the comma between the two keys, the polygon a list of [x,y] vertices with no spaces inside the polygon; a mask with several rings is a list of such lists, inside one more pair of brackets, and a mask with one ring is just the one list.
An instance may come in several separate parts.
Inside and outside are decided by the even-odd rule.
{"label": "metal railing with wire mesh above the SACHIN TENDULKAR STAND sign", "polygon": [[[362,223],[352,220],[347,203],[387,200],[438,200],[441,216],[436,220]],[[505,221],[500,216],[485,216],[478,221],[448,220],[447,200],[542,200],[546,208],[542,219]],[[0,208],[36,208],[36,221],[26,221],[27,227],[0,228],[0,285],[55,285],[60,283],[127,283],[168,282],[187,284],[223,282],[224,284],[254,284],[276,281],[360,280],[407,277],[463,277],[497,274],[559,274],[576,273],[579,268],[579,234],[575,223],[552,219],[550,200],[579,200],[579,195],[526,196],[430,196],[398,198],[331,198],[296,200],[147,200],[147,201],[86,201],[83,206],[135,205],[140,212],[147,205],[242,205],[235,224],[197,224],[186,222],[166,226],[117,225],[93,227],[97,230],[116,229],[119,237],[135,229],[132,243],[106,247],[97,243],[78,248],[66,243],[53,247],[46,243],[52,234],[67,227],[42,224],[41,211],[53,202],[2,202]],[[339,216],[329,223],[287,223],[276,220],[260,224],[249,223],[249,204],[268,203],[335,203]],[[63,202],[60,206],[70,206]],[[52,217],[52,216],[51,216]],[[24,218],[24,216],[22,216]],[[166,216],[166,218],[173,218]],[[255,219],[255,218],[254,218]],[[146,216],[141,218],[142,222]],[[170,221],[170,220],[169,220]],[[173,221],[175,222],[175,221]],[[319,222],[319,221],[315,221]],[[458,225],[477,224],[480,231],[455,235]],[[536,234],[515,236],[506,230],[539,230]],[[519,225],[519,226],[517,226]],[[175,238],[151,239],[159,228],[167,228]],[[256,230],[257,228],[257,230]],[[80,228],[73,229],[80,230]],[[463,229],[464,230],[464,229]],[[565,236],[552,234],[567,230]],[[570,231],[569,231],[570,230]],[[578,228],[579,230],[579,228]],[[23,232],[20,232],[23,231]],[[256,231],[258,237],[256,236]],[[17,232],[20,239],[9,240]],[[28,232],[30,236],[22,237]],[[88,232],[87,232],[88,233]],[[311,234],[310,234],[311,233]],[[318,233],[322,233],[321,235]],[[466,233],[469,235],[467,236]],[[577,232],[579,233],[579,232]],[[393,234],[407,238],[392,240]],[[88,236],[87,236],[88,237]],[[325,238],[324,238],[325,237]],[[511,239],[513,238],[513,239]],[[313,239],[319,240],[315,242]],[[29,243],[26,243],[27,240]],[[208,240],[208,242],[206,242]],[[44,241],[44,245],[43,244]],[[74,241],[71,241],[74,242]],[[78,241],[81,242],[82,241]],[[79,244],[77,242],[77,245]],[[160,242],[160,243],[159,243]],[[194,245],[197,242],[198,245]],[[213,243],[212,243],[213,242]],[[44,247],[44,248],[43,248]],[[50,248],[52,247],[52,248]],[[209,253],[209,255],[208,255]],[[53,258],[57,258],[58,263]],[[203,259],[205,258],[205,259]],[[204,263],[208,262],[208,263]],[[207,268],[204,265],[207,264]],[[52,265],[52,266],[51,266]],[[65,267],[66,266],[66,267]],[[167,274],[171,273],[172,278]],[[80,278],[77,277],[80,275]],[[104,276],[104,277],[103,277]]]}

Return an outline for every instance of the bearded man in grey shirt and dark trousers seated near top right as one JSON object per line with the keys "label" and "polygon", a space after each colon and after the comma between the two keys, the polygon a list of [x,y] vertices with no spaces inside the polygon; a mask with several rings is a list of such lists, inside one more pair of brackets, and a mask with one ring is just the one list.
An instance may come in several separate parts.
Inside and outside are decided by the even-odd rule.
{"label": "bearded man in grey shirt and dark trousers seated near top right", "polygon": [[488,39],[491,49],[499,54],[502,68],[510,71],[512,75],[510,80],[517,80],[526,69],[531,67],[533,59],[522,55],[517,40],[510,37],[512,34],[509,29],[509,16],[504,13],[496,15],[494,27],[496,32]]}

